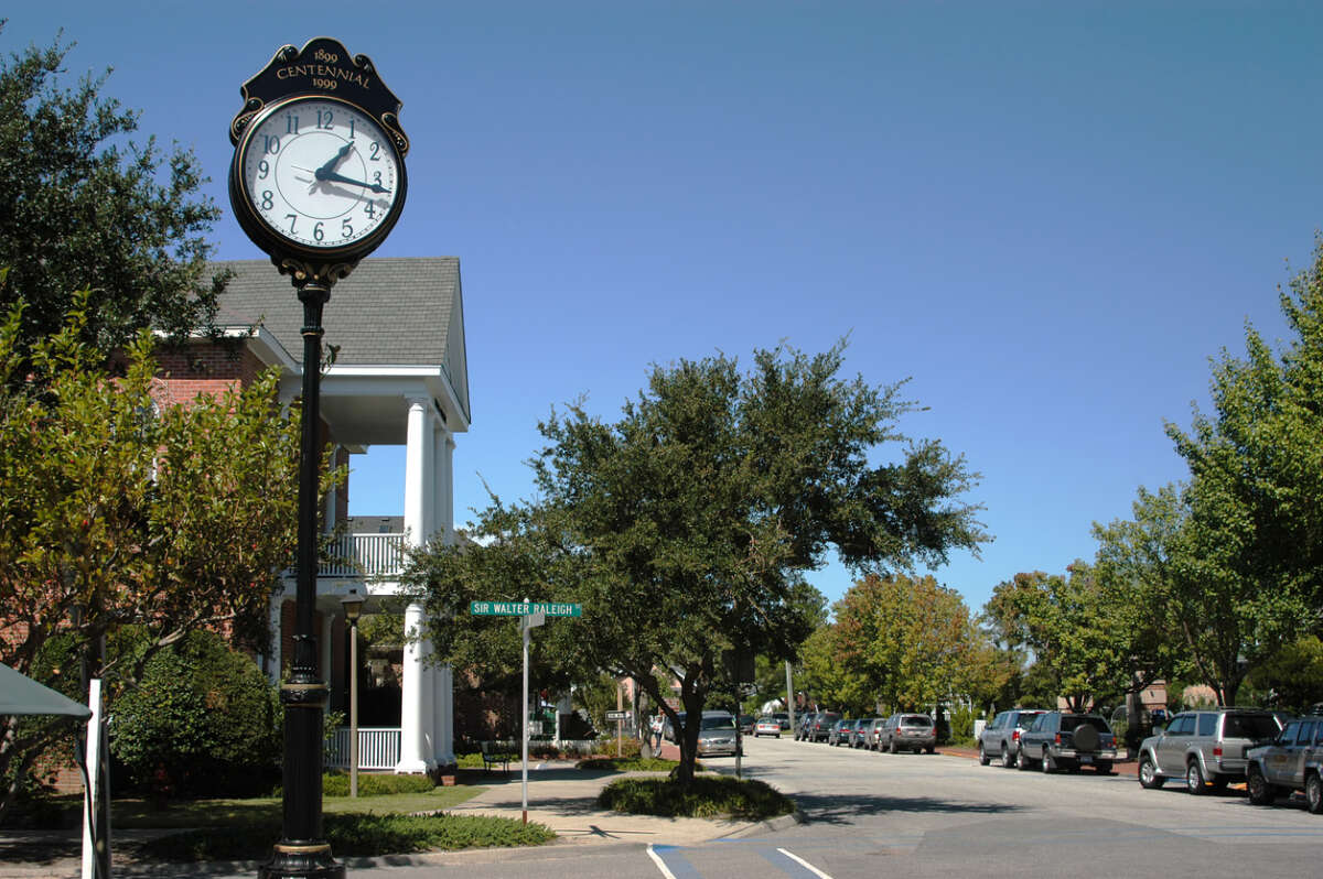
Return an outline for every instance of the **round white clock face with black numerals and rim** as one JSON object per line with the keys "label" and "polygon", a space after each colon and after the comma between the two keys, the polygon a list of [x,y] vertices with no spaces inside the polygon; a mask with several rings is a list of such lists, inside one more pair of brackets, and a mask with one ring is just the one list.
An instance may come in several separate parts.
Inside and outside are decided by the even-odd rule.
{"label": "round white clock face with black numerals and rim", "polygon": [[245,134],[235,163],[251,211],[307,248],[364,243],[389,229],[404,204],[404,164],[390,135],[331,98],[274,104]]}

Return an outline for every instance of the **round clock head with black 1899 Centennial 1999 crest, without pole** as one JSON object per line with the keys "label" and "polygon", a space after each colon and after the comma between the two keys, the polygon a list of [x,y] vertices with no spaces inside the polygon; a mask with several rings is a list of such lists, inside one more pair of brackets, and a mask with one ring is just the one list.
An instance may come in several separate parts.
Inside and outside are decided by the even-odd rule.
{"label": "round clock head with black 1899 Centennial 1999 crest, without pole", "polygon": [[230,204],[282,272],[333,283],[385,241],[407,190],[400,100],[366,56],[284,46],[243,85]]}

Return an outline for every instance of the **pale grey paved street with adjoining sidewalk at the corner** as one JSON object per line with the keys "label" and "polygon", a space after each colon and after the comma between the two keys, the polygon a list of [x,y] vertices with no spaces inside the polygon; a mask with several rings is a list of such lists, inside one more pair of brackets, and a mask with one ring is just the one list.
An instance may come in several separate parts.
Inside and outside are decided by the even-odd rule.
{"label": "pale grey paved street with adjoining sidewalk at the corner", "polygon": [[[733,759],[709,763],[734,772]],[[769,829],[617,818],[591,806],[606,776],[556,769],[534,773],[529,785],[531,818],[562,831],[556,845],[365,860],[351,863],[349,875],[1312,876],[1323,845],[1323,816],[1308,814],[1298,800],[1258,808],[1237,792],[1143,790],[1129,773],[1044,776],[979,767],[968,757],[878,755],[789,738],[750,739],[744,765],[747,776],[795,796],[803,823],[783,820]],[[511,814],[519,797],[512,772],[471,809]],[[234,866],[209,875],[254,871]]]}

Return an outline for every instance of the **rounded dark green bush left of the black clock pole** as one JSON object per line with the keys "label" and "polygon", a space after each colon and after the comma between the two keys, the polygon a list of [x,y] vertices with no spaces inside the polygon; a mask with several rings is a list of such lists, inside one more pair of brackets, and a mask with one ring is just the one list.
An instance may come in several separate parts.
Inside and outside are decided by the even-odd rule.
{"label": "rounded dark green bush left of the black clock pole", "polygon": [[156,796],[259,793],[278,776],[277,690],[218,634],[193,632],[115,702],[110,742],[130,784]]}

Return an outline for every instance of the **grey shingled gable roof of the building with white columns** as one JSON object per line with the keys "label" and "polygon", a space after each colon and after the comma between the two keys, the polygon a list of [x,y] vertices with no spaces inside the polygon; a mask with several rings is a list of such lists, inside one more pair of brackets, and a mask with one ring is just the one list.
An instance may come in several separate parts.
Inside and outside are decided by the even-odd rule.
{"label": "grey shingled gable roof of the building with white columns", "polygon": [[[216,316],[222,326],[261,324],[302,367],[303,304],[270,260],[212,263],[233,272]],[[336,283],[321,315],[336,366],[439,366],[466,419],[468,357],[458,256],[364,259]]]}

